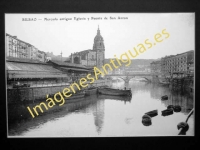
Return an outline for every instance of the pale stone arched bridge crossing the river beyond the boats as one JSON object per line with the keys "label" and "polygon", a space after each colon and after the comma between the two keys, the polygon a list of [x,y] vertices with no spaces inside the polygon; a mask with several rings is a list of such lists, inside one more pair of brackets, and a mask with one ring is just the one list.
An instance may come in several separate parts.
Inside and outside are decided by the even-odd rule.
{"label": "pale stone arched bridge crossing the river beyond the boats", "polygon": [[152,73],[132,73],[132,74],[107,74],[105,75],[106,78],[108,77],[117,77],[123,79],[125,83],[129,83],[129,81],[135,77],[141,77],[148,82],[151,82],[154,77],[158,77],[160,74],[152,74]]}

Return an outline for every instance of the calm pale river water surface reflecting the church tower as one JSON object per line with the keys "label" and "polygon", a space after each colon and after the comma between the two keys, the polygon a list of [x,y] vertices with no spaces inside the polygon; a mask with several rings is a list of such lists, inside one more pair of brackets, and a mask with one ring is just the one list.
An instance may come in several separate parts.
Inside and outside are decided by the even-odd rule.
{"label": "calm pale river water surface reflecting the church tower", "polygon": [[[123,88],[124,82],[116,82]],[[177,124],[186,120],[194,107],[193,95],[171,92],[168,87],[131,80],[128,85],[132,98],[89,96],[64,109],[29,120],[15,128],[17,137],[122,137],[122,136],[177,136]],[[161,96],[168,95],[168,100]],[[67,102],[66,102],[67,103]],[[182,106],[181,112],[162,116],[168,105]],[[158,110],[150,126],[142,124],[145,112]],[[189,120],[186,136],[194,136],[194,115]]]}

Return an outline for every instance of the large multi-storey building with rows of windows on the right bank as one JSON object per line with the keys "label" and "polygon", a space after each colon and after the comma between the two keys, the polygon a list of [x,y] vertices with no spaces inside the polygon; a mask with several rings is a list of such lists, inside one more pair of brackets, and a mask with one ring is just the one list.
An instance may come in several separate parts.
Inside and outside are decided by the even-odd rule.
{"label": "large multi-storey building with rows of windows on the right bank", "polygon": [[194,59],[194,50],[177,55],[161,58],[161,72],[163,74],[189,73],[189,64]]}

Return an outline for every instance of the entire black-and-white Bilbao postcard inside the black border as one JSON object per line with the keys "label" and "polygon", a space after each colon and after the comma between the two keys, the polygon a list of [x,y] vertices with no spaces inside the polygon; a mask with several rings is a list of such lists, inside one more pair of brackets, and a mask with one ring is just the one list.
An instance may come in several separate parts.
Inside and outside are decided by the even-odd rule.
{"label": "entire black-and-white Bilbao postcard inside the black border", "polygon": [[195,136],[195,13],[5,13],[8,138]]}

